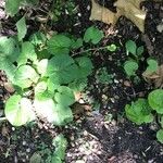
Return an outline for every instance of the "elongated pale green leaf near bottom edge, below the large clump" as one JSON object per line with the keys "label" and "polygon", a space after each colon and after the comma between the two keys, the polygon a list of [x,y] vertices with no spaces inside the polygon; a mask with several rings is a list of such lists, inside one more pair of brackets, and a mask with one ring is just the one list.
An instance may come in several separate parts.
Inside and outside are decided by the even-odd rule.
{"label": "elongated pale green leaf near bottom edge, below the large clump", "polygon": [[64,136],[62,134],[60,134],[59,136],[57,136],[53,139],[52,145],[55,147],[55,151],[54,151],[54,156],[60,158],[60,160],[64,160],[65,158],[65,150],[67,148],[67,140],[64,138]]}

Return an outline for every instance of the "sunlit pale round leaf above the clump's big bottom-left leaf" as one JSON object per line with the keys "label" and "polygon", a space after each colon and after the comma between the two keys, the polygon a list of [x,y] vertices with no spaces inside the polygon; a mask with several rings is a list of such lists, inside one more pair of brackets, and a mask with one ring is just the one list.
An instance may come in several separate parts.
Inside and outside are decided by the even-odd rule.
{"label": "sunlit pale round leaf above the clump's big bottom-left leaf", "polygon": [[20,86],[21,88],[28,88],[33,83],[37,83],[39,75],[36,71],[29,65],[21,65],[14,76],[14,85]]}

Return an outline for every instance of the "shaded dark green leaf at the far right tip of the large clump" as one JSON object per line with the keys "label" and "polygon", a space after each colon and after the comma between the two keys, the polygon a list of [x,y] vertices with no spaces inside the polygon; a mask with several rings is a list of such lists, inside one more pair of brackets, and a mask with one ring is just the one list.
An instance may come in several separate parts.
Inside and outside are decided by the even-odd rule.
{"label": "shaded dark green leaf at the far right tip of the large clump", "polygon": [[79,66],[79,77],[78,78],[84,78],[91,74],[93,66],[92,66],[91,60],[89,58],[80,57],[80,58],[77,58],[76,61]]}

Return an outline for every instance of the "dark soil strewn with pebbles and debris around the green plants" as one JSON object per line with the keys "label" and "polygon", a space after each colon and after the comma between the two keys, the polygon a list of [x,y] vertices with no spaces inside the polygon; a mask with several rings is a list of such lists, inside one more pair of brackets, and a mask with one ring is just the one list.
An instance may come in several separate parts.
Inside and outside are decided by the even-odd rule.
{"label": "dark soil strewn with pebbles and debris around the green plants", "polygon": [[[41,2],[43,3],[43,2]],[[145,58],[155,57],[160,64],[163,63],[163,32],[156,26],[163,20],[163,5],[156,2],[145,2],[148,14],[146,18],[146,33],[141,34],[138,28],[127,18],[121,17],[113,29],[110,25],[100,22],[90,22],[90,1],[76,0],[78,9],[74,17],[63,12],[62,17],[52,26],[46,26],[49,30],[70,32],[75,36],[82,36],[91,24],[97,25],[105,33],[100,46],[115,43],[118,49],[115,52],[105,50],[91,51],[91,60],[95,66],[93,74],[89,77],[88,87],[83,93],[83,101],[91,105],[91,113],[84,113],[75,124],[65,128],[55,128],[42,124],[12,127],[8,122],[0,124],[0,163],[29,162],[29,158],[37,151],[49,149],[52,138],[63,131],[68,139],[66,163],[162,163],[163,146],[156,141],[155,131],[158,124],[136,126],[127,121],[124,112],[125,104],[138,97],[147,97],[152,85],[147,84],[141,73],[146,68],[142,62],[138,75],[139,83],[128,79],[123,71],[126,61],[124,43],[128,39],[135,40],[139,46],[147,49]],[[99,3],[115,11],[113,1],[99,1]],[[42,9],[50,8],[50,1]],[[48,9],[47,9],[48,10]],[[23,12],[23,11],[22,11]],[[33,12],[33,16],[37,12]],[[15,34],[16,20],[5,17],[3,3],[0,2],[0,17],[2,30],[0,35],[10,36]],[[11,20],[11,21],[10,21]],[[9,23],[10,22],[10,23]],[[34,23],[34,24],[32,24]],[[28,21],[30,33],[40,28],[40,23]],[[28,30],[29,30],[28,29]],[[112,84],[100,84],[95,77],[99,68],[106,67],[109,74],[113,74]],[[3,72],[0,74],[0,115],[3,116],[3,106],[7,98],[12,93],[4,87],[8,79]],[[96,110],[96,106],[98,109]],[[112,114],[112,118],[106,118]],[[45,158],[46,153],[42,154]],[[78,162],[77,162],[78,161]],[[80,162],[79,162],[80,161]]]}

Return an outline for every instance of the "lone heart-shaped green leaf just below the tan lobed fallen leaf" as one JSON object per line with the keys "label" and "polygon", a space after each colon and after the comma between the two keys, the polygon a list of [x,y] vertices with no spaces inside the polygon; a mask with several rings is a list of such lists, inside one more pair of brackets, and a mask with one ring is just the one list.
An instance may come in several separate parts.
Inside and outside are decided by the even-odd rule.
{"label": "lone heart-shaped green leaf just below the tan lobed fallen leaf", "polygon": [[95,26],[91,26],[87,28],[84,35],[84,41],[85,42],[92,42],[93,45],[97,45],[102,38],[104,37],[103,33],[96,28]]}

